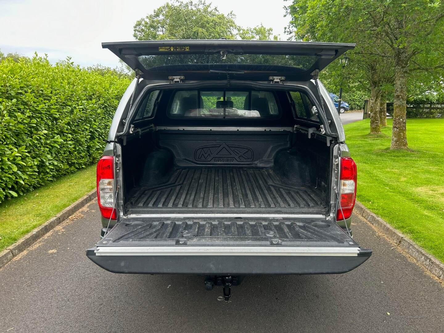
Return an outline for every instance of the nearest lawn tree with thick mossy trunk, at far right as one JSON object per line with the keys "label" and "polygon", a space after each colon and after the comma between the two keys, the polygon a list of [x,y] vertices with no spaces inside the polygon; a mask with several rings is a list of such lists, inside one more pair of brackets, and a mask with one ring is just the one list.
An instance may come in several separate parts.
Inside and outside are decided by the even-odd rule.
{"label": "nearest lawn tree with thick mossy trunk, at far right", "polygon": [[[363,2],[360,3],[360,6]],[[394,61],[394,103],[392,149],[408,147],[406,131],[406,101],[408,75],[415,59],[433,61],[435,51],[442,50],[441,1],[391,0],[384,3],[365,1],[362,14],[369,20],[375,39],[384,43]],[[436,58],[435,58],[436,59]],[[438,65],[437,68],[440,68]],[[429,68],[430,69],[430,68]]]}

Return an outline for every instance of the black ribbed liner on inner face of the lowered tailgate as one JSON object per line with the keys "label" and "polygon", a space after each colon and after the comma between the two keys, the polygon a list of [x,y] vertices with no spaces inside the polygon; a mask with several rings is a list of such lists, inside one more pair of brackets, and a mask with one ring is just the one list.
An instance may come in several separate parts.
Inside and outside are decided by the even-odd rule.
{"label": "black ribbed liner on inner face of the lowered tailgate", "polygon": [[[182,243],[180,243],[182,242]],[[356,246],[331,221],[245,219],[151,219],[118,222],[98,246],[160,245]]]}

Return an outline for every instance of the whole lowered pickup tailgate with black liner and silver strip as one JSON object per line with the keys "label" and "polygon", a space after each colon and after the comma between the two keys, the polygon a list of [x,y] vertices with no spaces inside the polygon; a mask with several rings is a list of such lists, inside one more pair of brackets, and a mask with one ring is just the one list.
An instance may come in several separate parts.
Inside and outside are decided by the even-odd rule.
{"label": "whole lowered pickup tailgate with black liner and silver strip", "polygon": [[121,221],[87,256],[115,273],[333,274],[372,251],[321,220]]}

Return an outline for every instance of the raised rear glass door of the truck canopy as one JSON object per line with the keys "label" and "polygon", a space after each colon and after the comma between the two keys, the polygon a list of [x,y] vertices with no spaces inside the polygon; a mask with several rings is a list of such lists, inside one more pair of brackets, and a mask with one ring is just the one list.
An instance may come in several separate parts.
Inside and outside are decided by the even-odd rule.
{"label": "raised rear glass door of the truck canopy", "polygon": [[102,43],[144,79],[309,80],[355,44],[270,40],[147,40]]}

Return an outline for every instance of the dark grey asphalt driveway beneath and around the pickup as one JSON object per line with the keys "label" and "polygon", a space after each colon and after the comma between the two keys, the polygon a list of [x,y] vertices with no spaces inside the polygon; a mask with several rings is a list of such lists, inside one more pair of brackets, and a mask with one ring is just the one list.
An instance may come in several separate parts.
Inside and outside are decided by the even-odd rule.
{"label": "dark grey asphalt driveway beneath and around the pickup", "polygon": [[[112,274],[85,249],[91,202],[0,269],[0,332],[442,332],[444,287],[354,216],[373,256],[347,274],[247,277],[206,291],[203,277]],[[9,330],[9,331],[8,331]]]}

